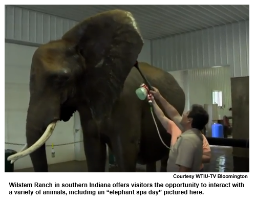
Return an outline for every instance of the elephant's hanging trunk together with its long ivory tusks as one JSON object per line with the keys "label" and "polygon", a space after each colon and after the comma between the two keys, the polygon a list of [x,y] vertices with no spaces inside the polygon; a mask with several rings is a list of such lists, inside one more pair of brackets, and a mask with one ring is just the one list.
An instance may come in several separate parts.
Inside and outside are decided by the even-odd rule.
{"label": "elephant's hanging trunk together with its long ivory tusks", "polygon": [[45,143],[51,137],[59,115],[59,98],[40,96],[40,99],[30,99],[26,124],[28,148],[9,156],[8,160],[17,160],[30,154],[34,171],[47,172]]}

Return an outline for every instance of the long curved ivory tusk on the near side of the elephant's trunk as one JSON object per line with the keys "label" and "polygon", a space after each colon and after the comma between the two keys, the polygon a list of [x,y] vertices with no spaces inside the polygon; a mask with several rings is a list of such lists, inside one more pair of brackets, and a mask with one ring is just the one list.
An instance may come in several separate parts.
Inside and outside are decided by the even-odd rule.
{"label": "long curved ivory tusk on the near side of the elephant's trunk", "polygon": [[44,134],[42,134],[42,136],[31,147],[25,149],[24,151],[10,155],[7,158],[7,160],[8,161],[18,160],[20,158],[23,158],[26,155],[29,155],[30,153],[33,153],[36,149],[38,149],[43,144],[45,144],[46,141],[51,137],[55,126],[56,126],[56,122],[50,123],[46,128],[46,131],[44,132]]}

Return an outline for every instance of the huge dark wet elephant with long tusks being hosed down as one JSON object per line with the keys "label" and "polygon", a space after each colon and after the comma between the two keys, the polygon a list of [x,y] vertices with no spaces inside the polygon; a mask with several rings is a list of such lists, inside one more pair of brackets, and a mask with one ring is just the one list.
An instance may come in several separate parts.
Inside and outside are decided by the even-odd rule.
{"label": "huge dark wet elephant with long tusks being hosed down", "polygon": [[[159,160],[166,166],[169,149],[160,141],[148,102],[135,94],[144,83],[134,66],[142,47],[133,15],[122,10],[87,18],[61,39],[42,44],[31,62],[28,148],[8,160],[30,155],[35,172],[48,172],[45,142],[57,121],[67,122],[78,111],[88,172],[104,172],[106,144],[120,172],[136,172],[137,163],[152,172]],[[185,94],[175,78],[145,62],[139,66],[182,113]],[[169,146],[170,134],[156,122]]]}

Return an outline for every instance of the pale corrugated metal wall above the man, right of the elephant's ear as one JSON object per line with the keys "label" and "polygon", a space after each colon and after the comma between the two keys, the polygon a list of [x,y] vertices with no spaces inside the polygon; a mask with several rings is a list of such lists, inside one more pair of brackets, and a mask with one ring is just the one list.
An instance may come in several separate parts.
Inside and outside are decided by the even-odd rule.
{"label": "pale corrugated metal wall above the man, right of the elephant's ear", "polygon": [[152,41],[152,62],[166,71],[230,65],[249,76],[249,20]]}

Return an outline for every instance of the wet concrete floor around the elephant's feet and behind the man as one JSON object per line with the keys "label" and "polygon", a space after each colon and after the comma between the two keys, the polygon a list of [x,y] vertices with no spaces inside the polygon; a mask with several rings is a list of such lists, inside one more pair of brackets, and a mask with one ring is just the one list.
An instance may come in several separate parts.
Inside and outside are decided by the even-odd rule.
{"label": "wet concrete floor around the elephant's feet and behind the man", "polygon": [[[211,162],[205,164],[204,172],[249,172],[249,159],[232,156],[232,147],[211,146]],[[169,160],[168,170],[177,172],[173,160]],[[157,163],[159,171],[160,164]],[[34,172],[33,168],[15,170],[14,172]],[[49,172],[87,172],[86,161],[70,161],[49,165]],[[118,172],[118,168],[110,168],[109,172]],[[144,165],[137,165],[137,172],[145,172]]]}

